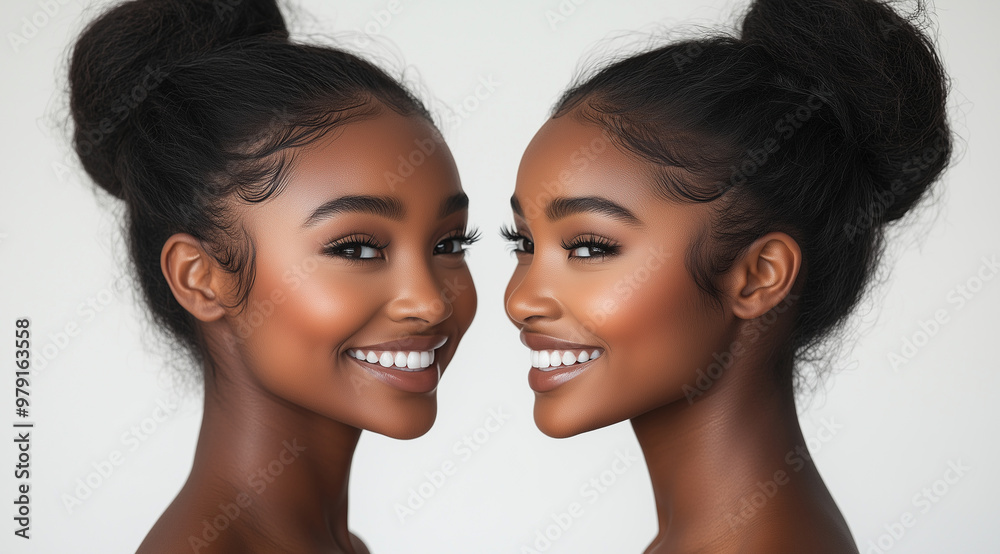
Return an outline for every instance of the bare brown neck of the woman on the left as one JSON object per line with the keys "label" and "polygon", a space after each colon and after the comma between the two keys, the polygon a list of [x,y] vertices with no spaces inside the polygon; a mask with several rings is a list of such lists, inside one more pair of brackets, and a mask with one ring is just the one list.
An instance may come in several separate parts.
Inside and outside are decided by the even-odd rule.
{"label": "bare brown neck of the woman on the left", "polygon": [[286,552],[354,552],[347,490],[360,429],[246,383],[205,389],[189,482],[220,491],[210,515],[221,498],[240,508],[230,527]]}

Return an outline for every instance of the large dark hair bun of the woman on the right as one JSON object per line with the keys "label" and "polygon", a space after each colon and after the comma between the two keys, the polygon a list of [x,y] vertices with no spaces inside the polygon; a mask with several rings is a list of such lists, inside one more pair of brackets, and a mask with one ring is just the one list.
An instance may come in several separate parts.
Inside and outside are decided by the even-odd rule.
{"label": "large dark hair bun of the woman on the right", "polygon": [[948,79],[918,1],[903,16],[874,0],[758,0],[742,40],[787,67],[793,86],[832,93],[826,115],[871,179],[856,186],[876,221],[899,219],[947,165]]}

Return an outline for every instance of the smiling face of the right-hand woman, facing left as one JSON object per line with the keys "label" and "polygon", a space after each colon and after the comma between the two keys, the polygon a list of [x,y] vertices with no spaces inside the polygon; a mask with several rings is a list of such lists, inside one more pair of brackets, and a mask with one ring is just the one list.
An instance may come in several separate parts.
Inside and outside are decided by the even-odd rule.
{"label": "smiling face of the right-hand woman, facing left", "polygon": [[521,160],[505,303],[532,351],[535,422],[550,436],[686,402],[684,386],[730,342],[685,267],[707,204],[652,191],[646,164],[569,114],[543,125]]}

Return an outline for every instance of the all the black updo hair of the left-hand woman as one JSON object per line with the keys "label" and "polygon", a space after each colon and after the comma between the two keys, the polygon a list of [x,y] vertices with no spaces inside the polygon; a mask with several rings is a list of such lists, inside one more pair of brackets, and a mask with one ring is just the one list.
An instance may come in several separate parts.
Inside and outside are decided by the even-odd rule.
{"label": "all the black updo hair of the left-hand woman", "polygon": [[[160,269],[171,235],[190,233],[235,277],[245,308],[255,247],[232,199],[277,193],[288,149],[384,108],[431,121],[372,63],[294,43],[275,0],[133,0],[80,34],[69,64],[73,146],[124,201],[131,269],[152,322],[202,367],[215,362],[197,320]],[[206,364],[207,362],[207,364]]]}

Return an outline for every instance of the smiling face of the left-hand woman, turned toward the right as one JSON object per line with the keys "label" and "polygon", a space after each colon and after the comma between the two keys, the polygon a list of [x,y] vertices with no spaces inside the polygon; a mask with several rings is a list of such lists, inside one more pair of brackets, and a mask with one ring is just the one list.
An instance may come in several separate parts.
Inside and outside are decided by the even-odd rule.
{"label": "smiling face of the left-hand woman, turned toward the right", "polygon": [[388,110],[347,124],[244,213],[256,277],[230,323],[255,386],[392,437],[430,429],[476,312],[467,199],[435,129]]}

